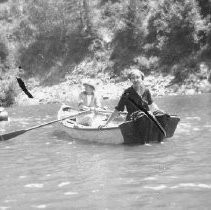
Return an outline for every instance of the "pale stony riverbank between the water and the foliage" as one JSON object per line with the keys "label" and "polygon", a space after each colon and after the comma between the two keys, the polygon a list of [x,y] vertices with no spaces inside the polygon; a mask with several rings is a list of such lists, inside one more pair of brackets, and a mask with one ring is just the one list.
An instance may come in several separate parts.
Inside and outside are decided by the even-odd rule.
{"label": "pale stony riverbank between the water and the foliage", "polygon": [[[121,81],[120,79],[110,79],[107,76],[102,78],[103,77],[95,79],[96,92],[102,96],[102,99],[116,99],[131,85],[128,80]],[[37,84],[29,89],[34,96],[33,99],[28,98],[20,91],[20,94],[15,99],[16,104],[74,104],[77,101],[79,92],[83,89],[83,79],[85,78],[76,75],[67,77],[65,81],[52,86],[40,86]],[[207,79],[200,79],[195,75],[190,75],[183,83],[176,83],[174,82],[173,76],[153,74],[145,78],[145,85],[151,90],[153,97],[161,97],[164,95],[194,95],[211,92],[211,84]]]}

